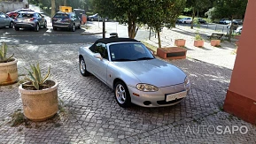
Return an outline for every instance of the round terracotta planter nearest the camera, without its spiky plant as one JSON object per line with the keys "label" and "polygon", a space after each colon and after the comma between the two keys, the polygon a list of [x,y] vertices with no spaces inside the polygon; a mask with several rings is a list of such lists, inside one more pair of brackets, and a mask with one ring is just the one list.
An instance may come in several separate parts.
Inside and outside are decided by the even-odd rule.
{"label": "round terracotta planter nearest the camera, without its spiky plant", "polygon": [[[43,90],[27,90],[19,86],[24,115],[32,121],[43,121],[53,117],[58,111],[58,83]],[[24,83],[26,84],[26,83]]]}

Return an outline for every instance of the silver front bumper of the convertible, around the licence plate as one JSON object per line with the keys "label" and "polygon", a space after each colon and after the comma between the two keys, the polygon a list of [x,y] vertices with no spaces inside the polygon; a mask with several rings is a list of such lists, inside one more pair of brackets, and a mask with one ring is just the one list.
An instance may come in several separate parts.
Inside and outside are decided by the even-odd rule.
{"label": "silver front bumper of the convertible, around the licence plate", "polygon": [[[136,87],[131,86],[128,86],[128,90],[131,102],[136,105],[142,107],[165,107],[182,102],[182,100],[189,94],[190,84],[187,86],[179,84],[175,86],[159,87],[159,90],[156,92],[143,92],[136,89]],[[175,94],[182,94],[182,97],[167,101],[167,95]]]}

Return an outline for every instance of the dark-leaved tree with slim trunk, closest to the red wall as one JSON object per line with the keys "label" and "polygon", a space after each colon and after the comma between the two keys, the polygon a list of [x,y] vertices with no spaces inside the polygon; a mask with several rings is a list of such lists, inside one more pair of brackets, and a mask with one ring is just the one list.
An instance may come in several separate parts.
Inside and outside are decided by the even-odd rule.
{"label": "dark-leaved tree with slim trunk, closest to the red wall", "polygon": [[[241,19],[246,11],[248,0],[218,0],[214,4],[214,17]],[[231,39],[233,23],[229,28],[229,41]]]}

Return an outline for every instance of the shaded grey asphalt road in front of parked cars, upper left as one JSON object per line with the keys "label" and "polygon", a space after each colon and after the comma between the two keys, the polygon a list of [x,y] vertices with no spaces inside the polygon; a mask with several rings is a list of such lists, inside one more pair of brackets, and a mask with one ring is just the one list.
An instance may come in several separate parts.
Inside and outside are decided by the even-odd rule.
{"label": "shaded grey asphalt road in front of parked cars, upper left", "polygon": [[81,35],[85,29],[77,29],[75,32],[66,30],[53,31],[52,27],[41,28],[39,32],[29,29],[15,31],[12,28],[0,28],[1,42],[8,44],[70,44],[95,42],[98,35]]}

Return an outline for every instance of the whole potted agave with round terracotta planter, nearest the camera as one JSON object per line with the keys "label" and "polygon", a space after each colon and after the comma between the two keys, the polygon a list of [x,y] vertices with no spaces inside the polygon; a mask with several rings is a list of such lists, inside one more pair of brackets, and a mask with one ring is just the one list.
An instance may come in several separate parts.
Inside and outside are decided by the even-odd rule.
{"label": "whole potted agave with round terracotta planter, nearest the camera", "polygon": [[39,64],[30,64],[27,82],[19,86],[24,115],[33,121],[43,121],[58,111],[58,83],[48,80],[50,67],[43,77]]}

